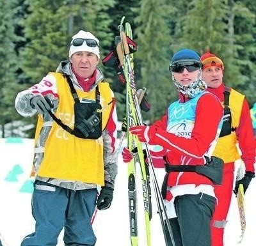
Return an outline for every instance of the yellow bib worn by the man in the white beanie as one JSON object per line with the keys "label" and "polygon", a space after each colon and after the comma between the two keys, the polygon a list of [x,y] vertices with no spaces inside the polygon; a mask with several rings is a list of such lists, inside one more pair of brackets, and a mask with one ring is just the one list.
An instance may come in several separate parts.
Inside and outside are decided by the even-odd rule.
{"label": "yellow bib worn by the man in the white beanie", "polygon": [[[74,98],[68,82],[61,73],[52,73],[56,77],[59,104],[55,116],[70,128],[74,128]],[[102,105],[102,130],[108,123],[113,100],[108,82],[99,82],[100,104]],[[89,92],[77,90],[79,99],[95,100],[95,89]],[[42,128],[42,117],[36,126],[37,139]],[[81,139],[69,134],[53,121],[51,132],[45,142],[44,159],[40,164],[38,176],[61,180],[83,181],[104,185],[103,141],[99,139]]]}

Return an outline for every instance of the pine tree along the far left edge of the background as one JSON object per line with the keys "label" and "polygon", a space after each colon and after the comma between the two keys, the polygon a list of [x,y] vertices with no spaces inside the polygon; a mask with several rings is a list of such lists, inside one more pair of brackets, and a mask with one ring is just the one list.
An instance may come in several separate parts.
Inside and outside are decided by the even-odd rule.
{"label": "pine tree along the far left edge of the background", "polygon": [[0,36],[2,37],[0,45],[0,125],[1,137],[5,137],[6,123],[19,118],[15,111],[14,102],[17,91],[19,91],[19,84],[17,81],[18,57],[15,50],[15,43],[19,42],[19,36],[15,35],[15,27],[17,26],[16,15],[19,12],[17,8],[17,1],[0,1]]}

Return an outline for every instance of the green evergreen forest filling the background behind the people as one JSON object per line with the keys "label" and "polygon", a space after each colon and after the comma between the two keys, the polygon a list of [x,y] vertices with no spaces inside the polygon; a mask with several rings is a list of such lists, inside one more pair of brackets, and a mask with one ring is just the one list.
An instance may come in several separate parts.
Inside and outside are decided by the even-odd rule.
{"label": "green evergreen forest filling the background behind the people", "polygon": [[[68,47],[80,29],[100,40],[103,59],[114,48],[122,16],[130,22],[137,88],[147,88],[147,122],[159,119],[177,91],[168,70],[182,48],[210,50],[225,64],[224,81],[256,102],[256,4],[252,0],[0,0],[0,125],[21,121],[15,97],[68,59]],[[125,87],[114,68],[100,62],[116,96],[118,119],[124,116]],[[33,137],[33,129],[29,137]],[[12,135],[12,134],[11,134]],[[13,133],[13,135],[15,135]]]}

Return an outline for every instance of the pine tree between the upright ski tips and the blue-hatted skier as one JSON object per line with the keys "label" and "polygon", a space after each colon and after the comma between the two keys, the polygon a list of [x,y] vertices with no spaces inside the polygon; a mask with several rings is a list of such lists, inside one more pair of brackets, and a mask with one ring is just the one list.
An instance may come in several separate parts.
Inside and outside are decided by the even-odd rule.
{"label": "pine tree between the upright ski tips and the blue-hatted skier", "polygon": [[168,71],[172,37],[166,27],[171,12],[172,6],[166,1],[143,0],[135,19],[134,33],[138,35],[139,49],[134,58],[140,68],[136,79],[139,87],[148,89],[152,107],[144,118],[151,122],[162,116],[168,104],[177,97]]}

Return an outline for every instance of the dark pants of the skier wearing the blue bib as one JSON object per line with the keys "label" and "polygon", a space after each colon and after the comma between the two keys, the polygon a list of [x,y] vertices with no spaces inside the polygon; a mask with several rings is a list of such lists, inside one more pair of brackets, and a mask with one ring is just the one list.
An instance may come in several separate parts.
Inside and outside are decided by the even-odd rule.
{"label": "dark pants of the skier wearing the blue bib", "polygon": [[[169,219],[175,246],[211,246],[215,203],[215,197],[203,193],[175,197],[177,218]],[[170,236],[168,246],[174,246]]]}

